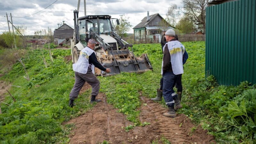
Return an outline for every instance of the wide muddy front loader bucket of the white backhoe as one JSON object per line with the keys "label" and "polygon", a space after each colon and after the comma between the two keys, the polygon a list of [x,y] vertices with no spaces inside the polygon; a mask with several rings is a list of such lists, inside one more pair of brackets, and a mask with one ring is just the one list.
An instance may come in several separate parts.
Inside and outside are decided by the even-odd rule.
{"label": "wide muddy front loader bucket of the white backhoe", "polygon": [[107,56],[99,61],[105,68],[110,68],[110,73],[105,73],[98,68],[95,68],[95,74],[101,76],[111,76],[120,74],[121,72],[137,72],[142,73],[148,70],[153,70],[147,54],[142,54],[141,57],[135,57],[128,49],[111,51],[107,50]]}

